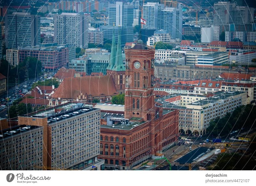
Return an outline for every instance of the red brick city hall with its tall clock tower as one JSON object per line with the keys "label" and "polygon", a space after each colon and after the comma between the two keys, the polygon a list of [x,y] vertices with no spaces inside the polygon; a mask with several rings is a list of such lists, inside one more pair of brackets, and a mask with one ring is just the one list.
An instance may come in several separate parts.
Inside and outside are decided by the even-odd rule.
{"label": "red brick city hall with its tall clock tower", "polygon": [[132,170],[176,144],[179,110],[154,104],[155,50],[125,49],[125,105],[101,109],[100,156],[105,168]]}

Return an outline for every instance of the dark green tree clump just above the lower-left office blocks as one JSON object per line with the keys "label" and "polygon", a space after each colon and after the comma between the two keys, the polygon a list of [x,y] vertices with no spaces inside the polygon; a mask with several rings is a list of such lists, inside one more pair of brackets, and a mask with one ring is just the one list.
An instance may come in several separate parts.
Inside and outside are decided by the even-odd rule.
{"label": "dark green tree clump just above the lower-left office blocks", "polygon": [[12,105],[8,110],[8,118],[15,118],[23,114],[28,114],[32,112],[32,107],[30,104],[20,103],[18,105]]}

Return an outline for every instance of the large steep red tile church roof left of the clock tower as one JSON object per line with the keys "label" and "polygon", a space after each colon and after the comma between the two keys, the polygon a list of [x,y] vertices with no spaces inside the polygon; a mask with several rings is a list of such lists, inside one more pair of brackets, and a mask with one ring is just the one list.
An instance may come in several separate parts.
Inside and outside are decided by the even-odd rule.
{"label": "large steep red tile church roof left of the clock tower", "polygon": [[118,94],[112,76],[104,75],[64,78],[52,97],[76,99],[77,95],[81,93],[86,93],[90,97]]}

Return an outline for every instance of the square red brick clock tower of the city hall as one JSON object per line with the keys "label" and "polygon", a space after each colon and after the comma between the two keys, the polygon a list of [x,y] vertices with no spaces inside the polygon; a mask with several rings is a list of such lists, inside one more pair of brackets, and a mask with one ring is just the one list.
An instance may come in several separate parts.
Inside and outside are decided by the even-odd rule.
{"label": "square red brick clock tower of the city hall", "polygon": [[[155,49],[139,42],[125,49],[125,118],[152,120],[159,115],[154,109],[154,59]],[[158,110],[158,109],[157,109]]]}

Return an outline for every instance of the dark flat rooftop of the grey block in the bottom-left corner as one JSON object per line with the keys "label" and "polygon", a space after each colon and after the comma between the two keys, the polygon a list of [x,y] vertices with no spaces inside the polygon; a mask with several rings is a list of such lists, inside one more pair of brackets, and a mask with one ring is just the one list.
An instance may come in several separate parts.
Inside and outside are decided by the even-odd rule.
{"label": "dark flat rooftop of the grey block in the bottom-left corner", "polygon": [[17,125],[11,128],[6,128],[0,131],[0,139],[12,137],[14,135],[18,135],[36,128],[40,128],[39,126],[29,126],[29,125]]}

